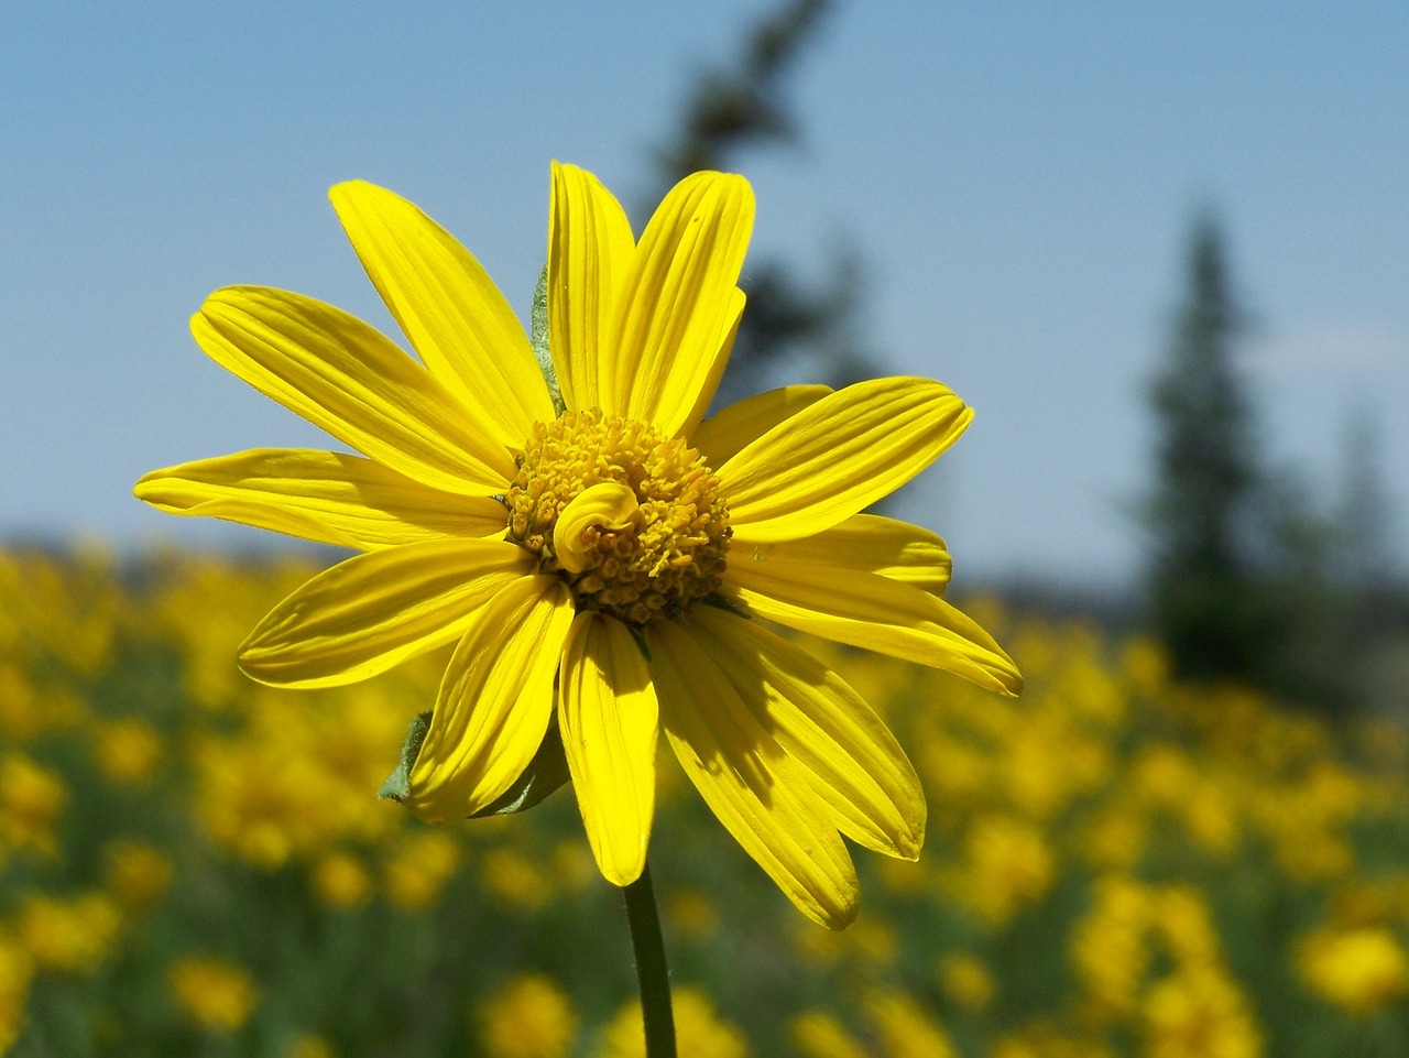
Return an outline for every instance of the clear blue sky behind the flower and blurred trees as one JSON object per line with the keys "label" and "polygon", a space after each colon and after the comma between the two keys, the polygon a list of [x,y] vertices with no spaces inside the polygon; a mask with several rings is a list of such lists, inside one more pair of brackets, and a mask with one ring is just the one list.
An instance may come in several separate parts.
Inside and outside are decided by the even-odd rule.
{"label": "clear blue sky behind the flower and blurred trees", "polygon": [[[121,8],[121,10],[118,10]],[[0,7],[0,540],[254,544],[131,499],[144,471],[321,435],[186,320],[265,283],[392,330],[327,204],[417,201],[527,311],[548,159],[650,186],[689,73],[766,4]],[[1268,458],[1330,496],[1353,414],[1409,517],[1409,4],[841,6],[754,154],[754,248],[872,269],[888,373],[968,435],[903,513],[957,578],[1129,575],[1143,386],[1189,220],[1223,218]],[[1401,542],[1405,535],[1401,534]]]}

